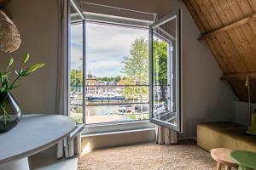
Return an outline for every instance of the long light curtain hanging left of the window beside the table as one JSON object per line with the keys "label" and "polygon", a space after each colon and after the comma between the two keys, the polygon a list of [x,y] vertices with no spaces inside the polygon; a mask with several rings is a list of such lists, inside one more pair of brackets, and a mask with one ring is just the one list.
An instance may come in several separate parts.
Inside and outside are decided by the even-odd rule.
{"label": "long light curtain hanging left of the window beside the table", "polygon": [[[58,75],[56,89],[56,114],[68,116],[68,56],[69,56],[69,0],[58,0]],[[56,157],[61,158],[79,155],[81,138],[80,133],[71,139],[62,140],[57,144]]]}

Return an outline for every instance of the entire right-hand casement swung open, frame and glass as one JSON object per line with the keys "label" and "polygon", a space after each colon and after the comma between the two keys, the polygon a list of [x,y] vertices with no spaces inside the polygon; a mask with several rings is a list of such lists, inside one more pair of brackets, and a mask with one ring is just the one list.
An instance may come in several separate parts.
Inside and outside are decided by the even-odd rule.
{"label": "entire right-hand casement swung open, frame and glass", "polygon": [[149,26],[150,122],[182,131],[181,11]]}

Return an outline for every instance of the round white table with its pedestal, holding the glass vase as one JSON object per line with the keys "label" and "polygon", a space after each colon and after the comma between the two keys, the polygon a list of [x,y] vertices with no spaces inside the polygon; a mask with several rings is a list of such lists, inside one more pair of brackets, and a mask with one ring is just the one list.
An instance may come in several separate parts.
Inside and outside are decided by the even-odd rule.
{"label": "round white table with its pedestal, holding the glass vase", "polygon": [[57,144],[75,128],[61,115],[26,115],[7,133],[0,133],[0,170],[28,170],[27,156]]}

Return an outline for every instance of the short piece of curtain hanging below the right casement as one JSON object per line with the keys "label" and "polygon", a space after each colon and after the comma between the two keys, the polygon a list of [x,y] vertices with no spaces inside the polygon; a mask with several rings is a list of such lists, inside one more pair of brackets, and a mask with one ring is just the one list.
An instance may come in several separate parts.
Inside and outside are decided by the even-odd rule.
{"label": "short piece of curtain hanging below the right casement", "polygon": [[156,144],[177,144],[177,132],[171,128],[155,125]]}

